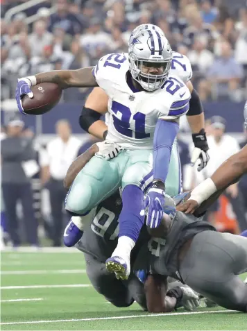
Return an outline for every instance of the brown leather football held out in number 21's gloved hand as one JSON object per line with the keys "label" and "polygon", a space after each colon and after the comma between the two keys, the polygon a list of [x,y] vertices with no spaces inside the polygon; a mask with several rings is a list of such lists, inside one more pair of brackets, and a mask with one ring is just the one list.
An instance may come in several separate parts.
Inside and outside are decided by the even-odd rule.
{"label": "brown leather football held out in number 21's gloved hand", "polygon": [[62,89],[55,83],[42,83],[31,87],[33,98],[25,95],[22,107],[26,114],[41,115],[49,112],[60,101]]}

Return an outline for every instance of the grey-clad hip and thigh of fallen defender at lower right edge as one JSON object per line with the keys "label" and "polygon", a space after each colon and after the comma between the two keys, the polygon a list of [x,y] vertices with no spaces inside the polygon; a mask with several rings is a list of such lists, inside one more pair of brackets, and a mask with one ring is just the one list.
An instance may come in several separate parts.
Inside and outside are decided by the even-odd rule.
{"label": "grey-clad hip and thigh of fallen defender at lower right edge", "polygon": [[247,285],[237,276],[246,269],[246,244],[247,239],[236,235],[199,233],[180,264],[182,279],[215,303],[246,312]]}

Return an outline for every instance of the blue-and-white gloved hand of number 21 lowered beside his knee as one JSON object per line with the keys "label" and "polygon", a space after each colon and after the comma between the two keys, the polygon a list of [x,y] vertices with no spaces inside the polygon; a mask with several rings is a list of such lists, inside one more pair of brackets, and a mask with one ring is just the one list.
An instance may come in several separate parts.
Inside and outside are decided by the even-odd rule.
{"label": "blue-and-white gloved hand of number 21 lowered beside his knee", "polygon": [[157,228],[160,225],[163,216],[163,206],[164,183],[162,183],[161,180],[153,180],[144,201],[147,226],[150,228]]}

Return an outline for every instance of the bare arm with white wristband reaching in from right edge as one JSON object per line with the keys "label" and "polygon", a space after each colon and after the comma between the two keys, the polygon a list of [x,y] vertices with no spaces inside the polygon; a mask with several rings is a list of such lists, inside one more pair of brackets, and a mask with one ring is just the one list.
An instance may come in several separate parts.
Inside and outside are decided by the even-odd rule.
{"label": "bare arm with white wristband reaching in from right edge", "polygon": [[236,183],[244,173],[247,173],[247,145],[223,162],[211,178],[207,178],[193,189],[190,198],[178,206],[177,210],[193,214],[199,205],[203,206],[213,196],[215,200],[226,187]]}

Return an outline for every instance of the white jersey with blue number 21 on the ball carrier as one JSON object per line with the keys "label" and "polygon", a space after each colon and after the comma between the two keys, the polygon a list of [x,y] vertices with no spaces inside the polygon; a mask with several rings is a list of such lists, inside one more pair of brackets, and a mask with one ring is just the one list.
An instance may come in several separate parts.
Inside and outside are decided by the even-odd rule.
{"label": "white jersey with blue number 21 on the ball carrier", "polygon": [[[185,71],[185,67],[181,68]],[[106,140],[127,149],[152,149],[157,120],[177,119],[186,114],[191,95],[183,80],[172,71],[159,90],[134,92],[135,88],[131,89],[126,81],[128,70],[128,53],[103,56],[93,69],[96,82],[109,96]],[[187,78],[184,75],[185,81],[189,75]]]}

